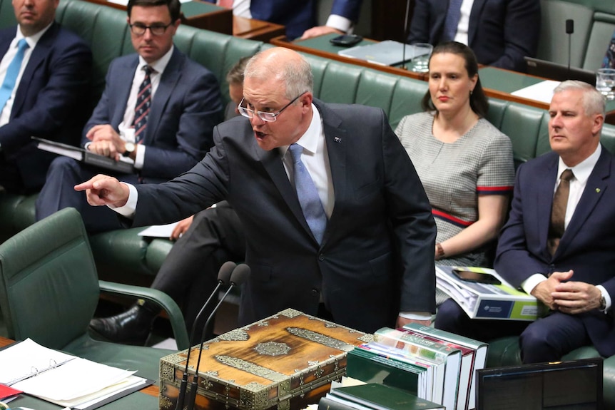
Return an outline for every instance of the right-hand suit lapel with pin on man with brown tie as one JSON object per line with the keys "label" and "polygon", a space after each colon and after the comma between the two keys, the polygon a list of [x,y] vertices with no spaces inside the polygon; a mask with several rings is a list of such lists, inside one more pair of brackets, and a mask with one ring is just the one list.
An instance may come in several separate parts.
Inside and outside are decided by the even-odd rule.
{"label": "right-hand suit lapel with pin on man with brown tie", "polygon": [[579,203],[576,205],[574,214],[572,215],[568,227],[564,231],[564,235],[561,237],[559,247],[555,252],[555,256],[560,252],[566,252],[566,247],[570,245],[574,237],[579,232],[585,221],[591,215],[591,212],[596,207],[602,195],[609,186],[609,176],[611,175],[611,158],[606,153],[606,149],[602,147],[602,153],[598,162],[594,166],[594,170],[591,171],[585,190],[581,195]]}

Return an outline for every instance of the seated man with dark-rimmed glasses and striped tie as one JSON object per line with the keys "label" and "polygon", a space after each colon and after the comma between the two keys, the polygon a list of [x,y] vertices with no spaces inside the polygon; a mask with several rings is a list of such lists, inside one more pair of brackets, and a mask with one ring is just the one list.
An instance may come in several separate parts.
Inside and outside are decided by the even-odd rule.
{"label": "seated man with dark-rimmed glasses and striped tie", "polygon": [[[128,18],[136,54],[111,62],[106,88],[83,130],[83,147],[134,164],[128,183],[161,183],[189,170],[213,145],[222,121],[218,83],[206,68],[175,46],[180,24],[178,0],[131,0]],[[76,207],[88,232],[121,227],[114,212],[87,205],[73,185],[99,170],[71,158],[51,164],[36,217]]]}

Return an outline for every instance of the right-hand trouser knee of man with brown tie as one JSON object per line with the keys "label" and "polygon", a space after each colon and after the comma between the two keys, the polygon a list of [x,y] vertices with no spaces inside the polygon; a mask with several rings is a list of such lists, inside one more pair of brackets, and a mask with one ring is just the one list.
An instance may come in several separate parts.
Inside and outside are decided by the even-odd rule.
{"label": "right-hand trouser knee of man with brown tie", "polygon": [[519,339],[524,363],[556,362],[577,347],[591,344],[581,319],[554,312],[529,324]]}

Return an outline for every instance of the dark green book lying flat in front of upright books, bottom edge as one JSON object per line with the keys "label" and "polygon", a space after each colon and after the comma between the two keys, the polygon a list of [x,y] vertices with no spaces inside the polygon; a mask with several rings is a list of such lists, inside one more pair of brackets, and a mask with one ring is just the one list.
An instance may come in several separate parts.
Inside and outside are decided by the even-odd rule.
{"label": "dark green book lying flat in front of upright books, bottom edge", "polygon": [[442,404],[420,399],[406,390],[377,383],[337,387],[331,390],[330,395],[345,399],[351,405],[354,403],[373,410],[444,410]]}

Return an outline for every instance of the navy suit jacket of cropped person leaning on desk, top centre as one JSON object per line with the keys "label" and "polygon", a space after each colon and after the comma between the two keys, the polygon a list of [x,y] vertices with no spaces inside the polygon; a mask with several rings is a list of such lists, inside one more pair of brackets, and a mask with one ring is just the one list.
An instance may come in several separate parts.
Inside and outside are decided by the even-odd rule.
{"label": "navy suit jacket of cropped person leaning on desk, top centre", "polygon": [[[215,3],[215,0],[206,0]],[[334,0],[331,14],[357,21],[362,0]],[[303,31],[316,26],[315,0],[252,0],[250,14],[253,19],[270,21],[286,27],[288,39],[296,39]]]}

